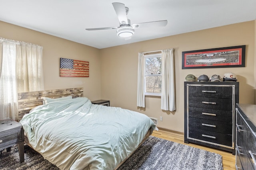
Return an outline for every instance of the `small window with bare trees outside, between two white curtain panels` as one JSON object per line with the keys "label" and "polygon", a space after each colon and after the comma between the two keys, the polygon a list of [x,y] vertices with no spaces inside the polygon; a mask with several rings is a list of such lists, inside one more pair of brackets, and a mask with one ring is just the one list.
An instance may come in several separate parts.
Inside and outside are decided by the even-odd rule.
{"label": "small window with bare trees outside, between two white curtain panels", "polygon": [[145,55],[145,96],[161,96],[162,56],[161,53]]}

